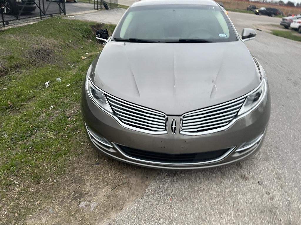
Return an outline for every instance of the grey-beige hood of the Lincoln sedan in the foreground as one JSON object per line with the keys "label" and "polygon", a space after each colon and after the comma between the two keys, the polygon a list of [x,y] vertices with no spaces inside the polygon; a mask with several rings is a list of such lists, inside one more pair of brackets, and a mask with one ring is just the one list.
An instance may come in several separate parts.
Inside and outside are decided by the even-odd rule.
{"label": "grey-beige hood of the Lincoln sedan in the foreground", "polygon": [[241,41],[109,41],[93,63],[91,78],[111,95],[167,115],[238,98],[260,82],[253,57]]}

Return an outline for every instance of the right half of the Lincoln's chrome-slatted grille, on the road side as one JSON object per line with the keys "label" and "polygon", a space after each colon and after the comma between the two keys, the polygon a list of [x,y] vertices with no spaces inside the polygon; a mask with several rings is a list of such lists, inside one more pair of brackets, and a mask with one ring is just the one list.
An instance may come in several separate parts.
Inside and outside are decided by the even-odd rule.
{"label": "right half of the Lincoln's chrome-slatted grille, on the road side", "polygon": [[236,116],[246,97],[203,108],[182,116],[182,132],[206,134],[225,128]]}

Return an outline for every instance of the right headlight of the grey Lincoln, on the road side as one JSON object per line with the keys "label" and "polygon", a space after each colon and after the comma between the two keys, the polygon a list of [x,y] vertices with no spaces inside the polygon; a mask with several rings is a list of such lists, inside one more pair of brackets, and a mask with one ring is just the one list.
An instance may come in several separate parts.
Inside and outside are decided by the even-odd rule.
{"label": "right headlight of the grey Lincoln, on the road side", "polygon": [[250,95],[247,96],[237,115],[241,115],[255,109],[262,102],[263,98],[266,95],[266,91],[267,84],[265,82],[265,79],[262,79],[259,86]]}

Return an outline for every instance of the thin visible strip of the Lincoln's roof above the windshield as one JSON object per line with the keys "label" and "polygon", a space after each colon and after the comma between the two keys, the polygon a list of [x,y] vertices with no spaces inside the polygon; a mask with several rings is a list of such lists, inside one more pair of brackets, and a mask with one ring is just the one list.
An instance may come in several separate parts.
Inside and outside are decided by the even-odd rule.
{"label": "thin visible strip of the Lincoln's roof above the windshield", "polygon": [[141,0],[136,1],[131,7],[147,5],[167,5],[167,4],[200,4],[200,5],[218,5],[212,0]]}

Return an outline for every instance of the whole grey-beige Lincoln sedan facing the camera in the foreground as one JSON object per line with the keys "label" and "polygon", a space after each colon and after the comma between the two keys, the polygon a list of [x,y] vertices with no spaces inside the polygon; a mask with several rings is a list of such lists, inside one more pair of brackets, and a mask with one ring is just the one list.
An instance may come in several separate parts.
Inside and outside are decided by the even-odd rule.
{"label": "whole grey-beige Lincoln sedan facing the camera in the foreground", "polygon": [[[180,3],[180,4],[179,4]],[[266,74],[215,1],[136,1],[88,68],[82,116],[101,154],[196,169],[256,152],[270,117]],[[116,66],[118,62],[118,66]]]}

